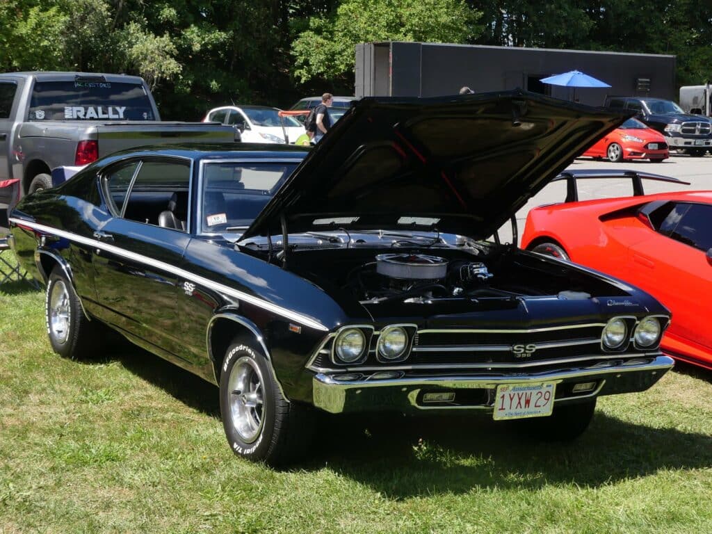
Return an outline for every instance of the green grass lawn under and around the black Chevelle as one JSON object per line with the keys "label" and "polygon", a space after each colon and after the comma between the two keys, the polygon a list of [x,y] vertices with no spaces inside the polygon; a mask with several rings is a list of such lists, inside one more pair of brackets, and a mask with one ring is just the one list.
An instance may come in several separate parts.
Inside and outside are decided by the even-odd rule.
{"label": "green grass lawn under and around the black Chevelle", "polygon": [[604,397],[569,445],[329,418],[312,459],[271,471],[232,454],[201,379],[130,346],[61,359],[21,283],[0,317],[1,534],[712,533],[712,373]]}

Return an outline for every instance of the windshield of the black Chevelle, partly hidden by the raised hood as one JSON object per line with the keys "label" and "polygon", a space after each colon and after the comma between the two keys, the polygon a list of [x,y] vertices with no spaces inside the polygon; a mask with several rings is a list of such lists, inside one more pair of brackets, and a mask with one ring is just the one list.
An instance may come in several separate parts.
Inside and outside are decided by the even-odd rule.
{"label": "windshield of the black Chevelle, partly hidden by the raised hood", "polygon": [[206,162],[201,181],[201,234],[244,231],[297,163]]}

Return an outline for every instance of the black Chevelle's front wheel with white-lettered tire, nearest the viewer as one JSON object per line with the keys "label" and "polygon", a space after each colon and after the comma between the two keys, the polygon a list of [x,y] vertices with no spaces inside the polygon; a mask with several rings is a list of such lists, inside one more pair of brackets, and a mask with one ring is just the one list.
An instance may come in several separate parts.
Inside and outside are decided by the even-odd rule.
{"label": "black Chevelle's front wheel with white-lettered tire, nearest the viewer", "polygon": [[237,456],[278,467],[303,456],[315,424],[313,409],[287,402],[256,343],[237,337],[220,375],[220,414]]}

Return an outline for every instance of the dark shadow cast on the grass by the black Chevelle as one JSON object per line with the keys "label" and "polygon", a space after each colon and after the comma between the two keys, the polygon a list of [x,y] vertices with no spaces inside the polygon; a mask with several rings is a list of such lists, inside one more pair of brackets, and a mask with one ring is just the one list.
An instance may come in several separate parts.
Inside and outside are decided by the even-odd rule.
{"label": "dark shadow cast on the grass by the black Chevelle", "polygon": [[[220,417],[217,388],[190,372],[127,342],[107,359]],[[310,457],[293,469],[329,468],[399,499],[474,488],[597,487],[664,469],[711,467],[712,436],[624,422],[599,410],[568,444],[536,441],[483,416],[323,414]]]}

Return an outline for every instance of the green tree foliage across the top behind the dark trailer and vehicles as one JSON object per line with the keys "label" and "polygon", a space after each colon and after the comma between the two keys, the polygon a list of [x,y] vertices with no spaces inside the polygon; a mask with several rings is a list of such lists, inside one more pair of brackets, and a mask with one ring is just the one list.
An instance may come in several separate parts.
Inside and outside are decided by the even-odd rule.
{"label": "green tree foliage across the top behind the dark trailer and vehicles", "polygon": [[352,94],[354,46],[425,41],[677,56],[712,78],[709,0],[0,0],[0,71],[142,75],[166,118]]}

